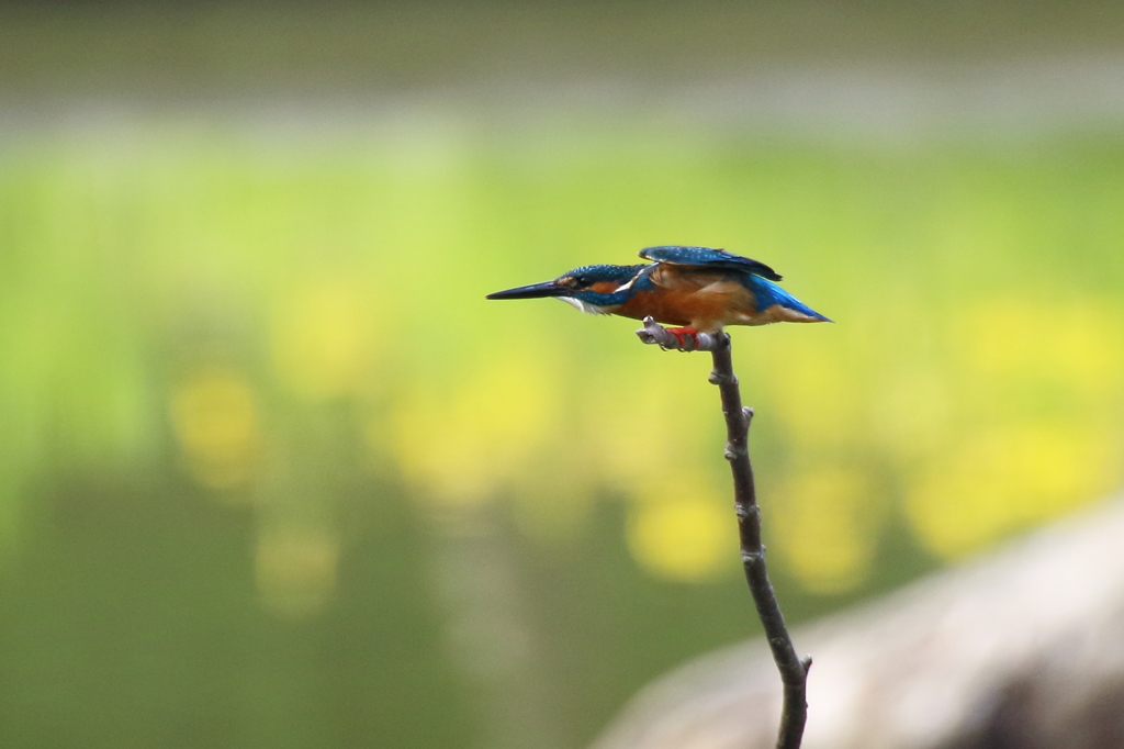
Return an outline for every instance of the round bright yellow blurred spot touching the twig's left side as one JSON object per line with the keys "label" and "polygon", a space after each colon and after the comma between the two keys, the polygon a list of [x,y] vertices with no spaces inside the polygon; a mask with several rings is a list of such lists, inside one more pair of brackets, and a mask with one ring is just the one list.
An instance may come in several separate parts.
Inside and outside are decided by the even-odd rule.
{"label": "round bright yellow blurred spot touching the twig's left side", "polygon": [[636,502],[626,527],[628,550],[647,571],[680,583],[713,579],[737,559],[733,508],[691,494]]}

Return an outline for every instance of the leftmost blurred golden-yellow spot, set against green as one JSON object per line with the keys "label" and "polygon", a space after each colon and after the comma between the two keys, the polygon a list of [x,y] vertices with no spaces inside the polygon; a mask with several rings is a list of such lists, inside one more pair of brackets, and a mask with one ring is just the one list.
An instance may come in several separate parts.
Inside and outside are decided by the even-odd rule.
{"label": "leftmost blurred golden-yellow spot, set against green", "polygon": [[241,372],[203,369],[175,383],[172,428],[191,476],[203,486],[226,489],[246,482],[256,468],[257,409]]}

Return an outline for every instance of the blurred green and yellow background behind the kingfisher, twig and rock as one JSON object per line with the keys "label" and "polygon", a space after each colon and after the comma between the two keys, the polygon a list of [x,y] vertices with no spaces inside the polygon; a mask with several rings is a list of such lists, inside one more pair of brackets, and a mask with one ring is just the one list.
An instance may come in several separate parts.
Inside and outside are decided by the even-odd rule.
{"label": "blurred green and yellow background behind the kingfisher, twig and rock", "polygon": [[836,321],[734,331],[790,622],[1105,496],[1122,42],[1107,2],[6,6],[0,746],[581,747],[756,634],[708,358],[483,301],[646,245]]}

